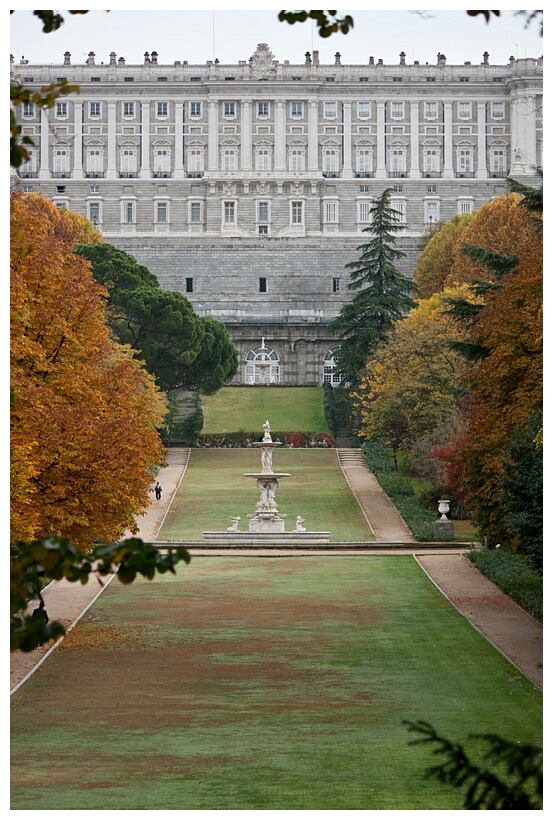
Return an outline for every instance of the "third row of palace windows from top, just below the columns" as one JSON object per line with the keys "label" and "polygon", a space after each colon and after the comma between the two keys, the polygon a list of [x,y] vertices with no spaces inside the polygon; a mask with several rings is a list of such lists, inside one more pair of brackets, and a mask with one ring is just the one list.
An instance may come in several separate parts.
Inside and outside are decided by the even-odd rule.
{"label": "third row of palace windows from top, just below the columns", "polygon": [[[60,194],[61,195],[61,192]],[[471,213],[473,200],[470,197],[458,199],[458,212]],[[58,205],[63,202],[58,201]],[[238,224],[238,201],[235,199],[223,200],[221,203],[221,224],[223,228],[236,228]],[[158,224],[169,223],[170,221],[170,201],[161,200],[154,203],[154,220]],[[396,211],[398,222],[407,221],[407,203],[405,199],[392,198],[392,208]],[[424,205],[424,221],[428,224],[440,221],[440,200],[438,198],[427,199]],[[134,199],[129,199],[121,203],[121,221],[123,223],[136,223],[137,203]],[[373,201],[369,198],[358,199],[357,201],[357,222],[360,224],[370,224],[372,221],[371,209]],[[255,220],[257,233],[260,236],[268,235],[271,218],[271,201],[257,200],[255,203]],[[94,225],[102,224],[102,203],[90,201],[88,203],[88,218]],[[322,203],[322,219],[325,224],[339,223],[339,202],[335,199],[328,199]],[[188,202],[188,221],[191,225],[202,225],[205,220],[205,203],[203,200],[190,200]],[[305,222],[305,202],[301,199],[289,200],[289,220],[292,227],[303,227]]]}

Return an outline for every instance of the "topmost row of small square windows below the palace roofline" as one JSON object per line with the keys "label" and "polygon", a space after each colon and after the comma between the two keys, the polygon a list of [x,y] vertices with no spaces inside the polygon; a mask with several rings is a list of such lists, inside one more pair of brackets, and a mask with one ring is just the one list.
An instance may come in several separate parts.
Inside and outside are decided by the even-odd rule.
{"label": "topmost row of small square windows below the palace roofline", "polygon": [[[88,103],[88,116],[91,119],[97,119],[102,116],[102,102]],[[128,101],[122,102],[121,115],[124,119],[134,119],[137,116],[139,106],[137,103]],[[189,102],[188,114],[190,119],[201,119],[206,103],[202,101]],[[259,101],[255,103],[255,113],[258,119],[269,119],[271,116],[271,108],[274,104],[270,102]],[[370,119],[373,114],[371,102],[357,102],[357,118],[360,120]],[[457,116],[460,120],[471,120],[474,115],[474,103],[470,100],[460,101],[456,103]],[[505,117],[505,103],[492,102],[490,107],[490,114],[492,119],[504,119]],[[403,101],[392,101],[388,104],[388,112],[392,119],[405,119],[406,103]],[[305,103],[302,100],[295,100],[288,102],[288,113],[292,119],[302,119],[305,116]],[[169,102],[156,102],[155,114],[158,119],[169,118]],[[57,102],[55,105],[55,116],[57,119],[68,119],[69,117],[69,103]],[[324,119],[334,120],[338,117],[340,106],[338,102],[325,101],[322,103]],[[233,100],[225,100],[221,103],[221,113],[225,119],[236,119],[239,111],[239,103]],[[423,103],[423,117],[427,120],[437,120],[440,113],[440,103],[437,101],[429,101]],[[34,103],[26,103],[23,106],[23,117],[26,119],[34,117],[36,108]]]}

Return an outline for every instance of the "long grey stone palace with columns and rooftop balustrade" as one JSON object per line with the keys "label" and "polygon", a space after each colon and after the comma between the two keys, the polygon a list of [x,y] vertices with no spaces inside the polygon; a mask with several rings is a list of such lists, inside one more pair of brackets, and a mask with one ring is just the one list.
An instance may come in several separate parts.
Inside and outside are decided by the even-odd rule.
{"label": "long grey stone palace with columns and rooftop balustrade", "polygon": [[433,223],[503,193],[508,175],[541,184],[541,58],[322,65],[314,51],[291,65],[262,43],[237,65],[12,57],[11,78],[80,86],[51,110],[18,108],[36,147],[12,185],[87,216],[224,322],[236,383],[260,355],[282,384],[335,378],[328,324],[352,298],[344,266],[385,188],[409,274]]}

